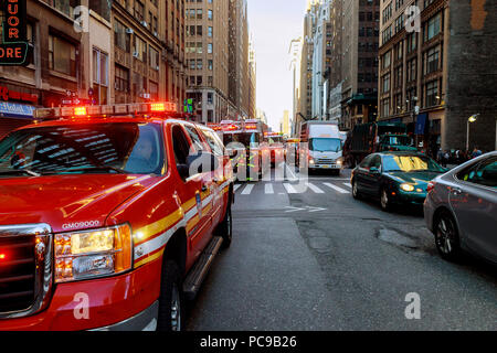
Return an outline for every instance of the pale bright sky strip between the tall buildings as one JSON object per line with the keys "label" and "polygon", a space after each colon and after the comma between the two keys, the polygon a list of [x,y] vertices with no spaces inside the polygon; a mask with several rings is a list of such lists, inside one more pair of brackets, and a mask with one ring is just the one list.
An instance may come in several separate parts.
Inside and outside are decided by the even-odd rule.
{"label": "pale bright sky strip between the tall buildings", "polygon": [[289,45],[303,33],[306,0],[247,0],[248,25],[257,63],[257,107],[279,130],[283,110],[292,113]]}

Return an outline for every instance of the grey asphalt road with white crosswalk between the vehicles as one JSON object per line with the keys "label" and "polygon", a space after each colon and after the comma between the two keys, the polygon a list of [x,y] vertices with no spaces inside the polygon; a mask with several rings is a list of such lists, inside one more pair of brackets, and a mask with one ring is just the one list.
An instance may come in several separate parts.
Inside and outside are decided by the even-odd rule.
{"label": "grey asphalt road with white crosswalk between the vehicles", "polygon": [[[356,201],[349,175],[311,175],[306,190],[239,186],[232,247],[189,304],[187,329],[497,330],[496,268],[442,260],[422,210]],[[405,317],[410,293],[419,320]]]}

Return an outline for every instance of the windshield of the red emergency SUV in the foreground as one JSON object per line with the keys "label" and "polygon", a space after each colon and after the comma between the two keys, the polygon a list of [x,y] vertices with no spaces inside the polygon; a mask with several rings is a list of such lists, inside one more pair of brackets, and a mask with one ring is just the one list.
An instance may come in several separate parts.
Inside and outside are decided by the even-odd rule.
{"label": "windshield of the red emergency SUV in the foreground", "polygon": [[40,127],[0,141],[0,178],[53,174],[162,174],[163,143],[156,124]]}

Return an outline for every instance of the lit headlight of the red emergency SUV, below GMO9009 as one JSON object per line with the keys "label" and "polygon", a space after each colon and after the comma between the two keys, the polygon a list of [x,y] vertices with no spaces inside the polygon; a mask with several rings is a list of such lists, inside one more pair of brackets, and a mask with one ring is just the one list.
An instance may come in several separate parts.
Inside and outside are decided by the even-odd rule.
{"label": "lit headlight of the red emergency SUV, below GMO9009", "polygon": [[128,225],[55,235],[55,281],[106,277],[133,266]]}

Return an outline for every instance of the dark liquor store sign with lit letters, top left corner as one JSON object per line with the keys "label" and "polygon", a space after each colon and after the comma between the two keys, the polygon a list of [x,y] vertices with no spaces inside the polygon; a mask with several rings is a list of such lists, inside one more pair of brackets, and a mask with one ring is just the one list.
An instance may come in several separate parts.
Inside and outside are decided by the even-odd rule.
{"label": "dark liquor store sign with lit letters, top left corner", "polygon": [[27,0],[3,0],[3,43],[0,65],[24,65],[28,57]]}

